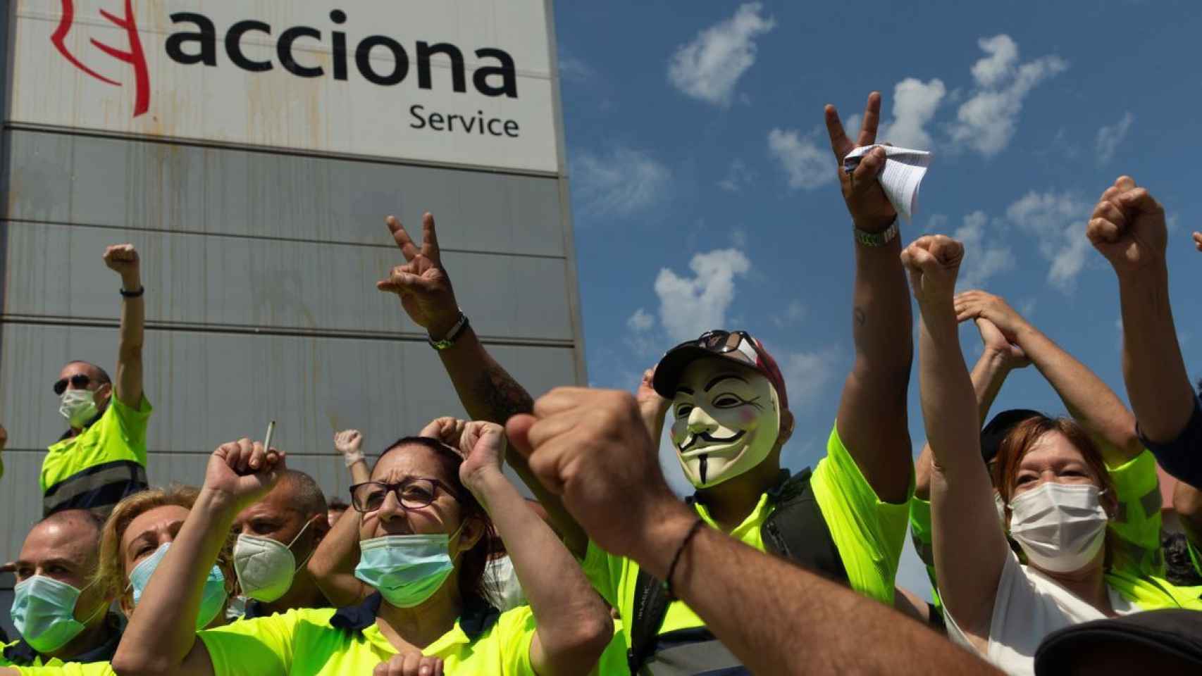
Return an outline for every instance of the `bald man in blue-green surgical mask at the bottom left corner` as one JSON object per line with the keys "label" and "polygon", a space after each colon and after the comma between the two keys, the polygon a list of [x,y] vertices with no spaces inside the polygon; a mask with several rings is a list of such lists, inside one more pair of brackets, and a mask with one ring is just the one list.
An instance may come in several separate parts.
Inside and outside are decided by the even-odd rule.
{"label": "bald man in blue-green surgical mask at the bottom left corner", "polygon": [[100,521],[70,509],[40,521],[13,564],[12,621],[20,640],[4,646],[0,666],[108,662],[121,622],[108,612],[112,597],[91,584],[100,550]]}

